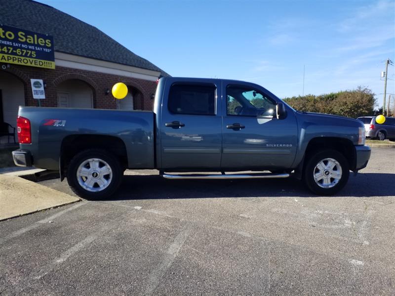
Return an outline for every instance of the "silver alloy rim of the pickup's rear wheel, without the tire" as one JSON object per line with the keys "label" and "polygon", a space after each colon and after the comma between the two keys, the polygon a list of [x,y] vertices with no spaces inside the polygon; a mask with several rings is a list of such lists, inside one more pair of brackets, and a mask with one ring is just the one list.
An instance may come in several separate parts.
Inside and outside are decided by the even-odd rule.
{"label": "silver alloy rim of the pickup's rear wheel, without the tire", "polygon": [[113,179],[110,165],[99,158],[84,160],[78,167],[77,180],[85,190],[97,192],[104,190]]}

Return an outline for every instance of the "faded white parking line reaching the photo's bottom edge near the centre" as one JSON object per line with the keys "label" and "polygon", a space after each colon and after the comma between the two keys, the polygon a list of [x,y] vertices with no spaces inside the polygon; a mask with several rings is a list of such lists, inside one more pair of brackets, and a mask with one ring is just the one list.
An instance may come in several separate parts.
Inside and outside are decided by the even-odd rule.
{"label": "faded white parking line reaching the photo's bottom edge near the centre", "polygon": [[189,233],[191,232],[192,225],[188,224],[183,231],[181,231],[173,243],[167,248],[166,253],[164,254],[164,258],[162,262],[155,268],[148,279],[148,284],[145,288],[145,292],[142,295],[151,295],[155,289],[158,287],[160,279],[166,273],[167,269],[171,266],[174,259],[176,258],[178,252],[183,246],[185,240],[187,239]]}

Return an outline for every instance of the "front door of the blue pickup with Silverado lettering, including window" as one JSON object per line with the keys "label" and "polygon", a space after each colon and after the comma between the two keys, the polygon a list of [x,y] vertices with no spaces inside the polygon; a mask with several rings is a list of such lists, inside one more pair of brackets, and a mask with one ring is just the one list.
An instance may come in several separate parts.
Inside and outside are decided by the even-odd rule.
{"label": "front door of the blue pickup with Silverado lettering, including window", "polygon": [[278,99],[263,88],[224,81],[223,91],[226,106],[222,109],[221,168],[240,171],[289,168],[298,139],[293,111],[289,109],[284,119],[277,119]]}

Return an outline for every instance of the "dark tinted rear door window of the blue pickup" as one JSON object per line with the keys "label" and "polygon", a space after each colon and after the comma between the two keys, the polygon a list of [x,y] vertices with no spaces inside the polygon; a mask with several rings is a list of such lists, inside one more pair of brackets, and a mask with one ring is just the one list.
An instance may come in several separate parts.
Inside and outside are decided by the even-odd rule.
{"label": "dark tinted rear door window of the blue pickup", "polygon": [[215,115],[215,90],[214,85],[174,84],[167,107],[174,114]]}

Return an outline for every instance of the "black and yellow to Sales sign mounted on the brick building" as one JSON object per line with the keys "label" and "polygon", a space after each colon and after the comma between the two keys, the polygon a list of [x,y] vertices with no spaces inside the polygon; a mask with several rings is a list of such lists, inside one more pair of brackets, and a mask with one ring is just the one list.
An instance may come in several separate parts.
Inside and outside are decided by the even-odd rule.
{"label": "black and yellow to Sales sign mounted on the brick building", "polygon": [[0,63],[55,69],[53,37],[0,25]]}

